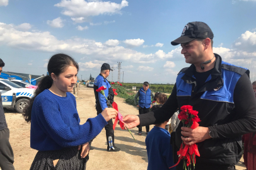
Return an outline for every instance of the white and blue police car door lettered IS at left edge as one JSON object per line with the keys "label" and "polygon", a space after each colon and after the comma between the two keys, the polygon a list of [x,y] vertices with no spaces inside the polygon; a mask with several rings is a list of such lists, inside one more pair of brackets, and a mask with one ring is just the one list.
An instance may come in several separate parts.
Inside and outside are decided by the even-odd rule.
{"label": "white and blue police car door lettered IS at left edge", "polygon": [[13,89],[6,84],[0,82],[0,92],[2,96],[3,106],[11,106],[13,101]]}

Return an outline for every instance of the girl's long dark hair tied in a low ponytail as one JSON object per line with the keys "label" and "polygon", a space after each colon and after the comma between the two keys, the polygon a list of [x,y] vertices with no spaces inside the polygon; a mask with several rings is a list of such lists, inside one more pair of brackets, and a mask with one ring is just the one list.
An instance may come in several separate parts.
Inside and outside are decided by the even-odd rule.
{"label": "girl's long dark hair tied in a low ponytail", "polygon": [[66,71],[67,67],[74,66],[79,70],[78,63],[69,55],[66,54],[55,54],[52,57],[50,57],[50,60],[47,65],[47,71],[49,72],[49,76],[45,76],[41,81],[40,84],[38,84],[37,89],[35,90],[35,94],[33,98],[30,99],[30,103],[25,108],[25,113],[23,114],[26,122],[31,121],[31,112],[32,112],[32,106],[35,98],[38,94],[42,93],[45,89],[49,89],[52,86],[53,80],[50,76],[52,73],[55,74],[55,76],[59,76],[62,72]]}

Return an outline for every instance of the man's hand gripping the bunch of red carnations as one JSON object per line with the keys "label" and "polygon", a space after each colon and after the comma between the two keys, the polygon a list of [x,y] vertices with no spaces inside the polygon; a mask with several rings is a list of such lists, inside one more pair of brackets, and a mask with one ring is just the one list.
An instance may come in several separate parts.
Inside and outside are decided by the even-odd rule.
{"label": "man's hand gripping the bunch of red carnations", "polygon": [[184,136],[182,137],[182,140],[187,145],[193,145],[206,139],[210,139],[209,131],[210,130],[207,127],[197,127],[195,129],[182,127],[182,135]]}

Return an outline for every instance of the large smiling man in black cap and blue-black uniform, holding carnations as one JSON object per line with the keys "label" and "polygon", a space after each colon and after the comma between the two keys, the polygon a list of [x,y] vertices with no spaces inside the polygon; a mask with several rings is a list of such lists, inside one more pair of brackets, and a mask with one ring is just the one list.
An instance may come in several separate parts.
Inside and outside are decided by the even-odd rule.
{"label": "large smiling man in black cap and blue-black uniform, holding carnations", "polygon": [[[248,69],[224,62],[212,51],[213,33],[206,23],[185,25],[181,53],[190,67],[177,76],[172,94],[158,110],[143,115],[127,115],[127,128],[168,120],[184,105],[193,106],[201,119],[199,127],[182,127],[175,132],[175,144],[197,144],[195,170],[231,170],[241,158],[241,135],[256,132],[256,103]],[[176,167],[182,170],[183,161]],[[194,170],[194,167],[192,167]]]}

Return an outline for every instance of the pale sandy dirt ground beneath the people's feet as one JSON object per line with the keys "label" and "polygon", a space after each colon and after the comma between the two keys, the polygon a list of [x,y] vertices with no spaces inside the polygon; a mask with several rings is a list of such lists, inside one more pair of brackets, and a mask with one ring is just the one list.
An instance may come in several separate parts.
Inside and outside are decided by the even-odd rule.
{"label": "pale sandy dirt ground beneath the people's feet", "polygon": [[[76,98],[77,109],[81,119],[81,124],[85,123],[88,118],[96,116],[95,97],[92,88],[80,86]],[[115,102],[119,105],[119,111],[122,115],[137,115],[138,110],[134,106],[127,105],[124,99],[115,96]],[[10,143],[15,154],[15,169],[30,169],[37,150],[30,148],[30,124],[26,123],[21,114],[15,111],[6,111],[6,121],[10,130]],[[153,128],[151,125],[150,129]],[[86,169],[89,170],[141,170],[147,169],[148,157],[145,146],[146,129],[143,127],[143,135],[137,135],[137,128],[131,129],[136,141],[132,139],[127,130],[120,127],[115,128],[115,144],[120,147],[120,152],[107,152],[107,140],[105,129],[93,140],[93,150],[90,150],[90,159]],[[236,169],[245,169],[240,160]]]}

